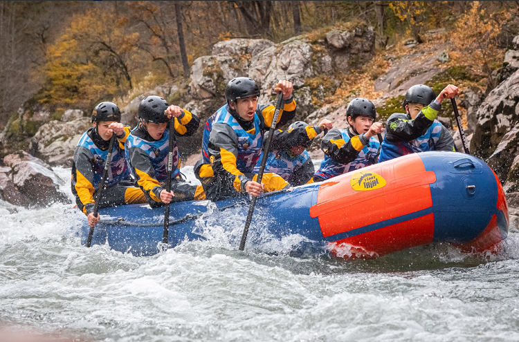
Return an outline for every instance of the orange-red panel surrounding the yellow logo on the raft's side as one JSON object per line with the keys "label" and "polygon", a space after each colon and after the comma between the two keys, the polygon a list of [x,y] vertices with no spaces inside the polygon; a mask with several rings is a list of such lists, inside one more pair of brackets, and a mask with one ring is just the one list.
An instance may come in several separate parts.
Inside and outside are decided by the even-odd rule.
{"label": "orange-red panel surrounding the yellow logo on the raft's side", "polygon": [[[356,182],[352,177],[359,173],[376,173],[387,183],[379,189],[356,191],[350,184]],[[318,192],[318,204],[310,208],[310,216],[318,218],[322,235],[326,237],[412,214],[432,207],[429,184],[435,181],[435,173],[426,171],[419,155],[406,155],[390,163],[372,165],[323,182]],[[344,186],[333,186],[336,184]],[[377,257],[432,243],[433,236],[434,217],[429,213],[338,240],[331,243],[331,252],[344,256],[340,250],[347,247],[356,254],[350,257]]]}

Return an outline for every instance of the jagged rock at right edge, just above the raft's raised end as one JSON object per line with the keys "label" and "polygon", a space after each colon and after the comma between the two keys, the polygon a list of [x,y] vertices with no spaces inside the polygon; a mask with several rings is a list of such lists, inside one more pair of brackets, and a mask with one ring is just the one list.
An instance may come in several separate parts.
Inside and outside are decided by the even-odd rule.
{"label": "jagged rock at right edge, just above the raft's raised end", "polygon": [[486,159],[519,119],[519,70],[486,96],[476,114],[471,154]]}

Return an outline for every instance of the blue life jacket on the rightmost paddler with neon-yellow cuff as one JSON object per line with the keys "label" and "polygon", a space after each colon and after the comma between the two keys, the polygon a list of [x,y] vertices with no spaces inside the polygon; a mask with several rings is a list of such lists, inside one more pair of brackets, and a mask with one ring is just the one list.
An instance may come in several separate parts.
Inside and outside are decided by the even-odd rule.
{"label": "blue life jacket on the rightmost paddler with neon-yellow cuff", "polygon": [[424,135],[410,142],[389,142],[384,139],[379,155],[379,162],[392,160],[410,153],[435,151],[435,146],[441,135],[441,127],[441,123],[438,120],[434,120]]}

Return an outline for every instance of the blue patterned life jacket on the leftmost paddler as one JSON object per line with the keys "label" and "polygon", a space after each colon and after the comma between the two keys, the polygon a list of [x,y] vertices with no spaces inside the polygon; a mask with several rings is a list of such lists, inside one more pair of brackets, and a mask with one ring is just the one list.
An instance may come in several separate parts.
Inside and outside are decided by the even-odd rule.
{"label": "blue patterned life jacket on the leftmost paddler", "polygon": [[[104,164],[106,163],[108,156],[108,149],[102,151],[98,146],[96,146],[91,137],[89,137],[89,132],[92,131],[93,128],[89,129],[80,138],[78,142],[78,146],[83,146],[93,155],[93,188],[98,189],[99,183],[101,182],[102,173],[104,171]],[[116,141],[113,144],[113,150],[111,153],[111,162],[107,173],[107,180],[104,184],[106,187],[111,187],[118,182],[122,182],[126,180],[130,175],[130,170],[128,167],[128,163],[125,157],[125,151],[120,148],[119,143]]]}

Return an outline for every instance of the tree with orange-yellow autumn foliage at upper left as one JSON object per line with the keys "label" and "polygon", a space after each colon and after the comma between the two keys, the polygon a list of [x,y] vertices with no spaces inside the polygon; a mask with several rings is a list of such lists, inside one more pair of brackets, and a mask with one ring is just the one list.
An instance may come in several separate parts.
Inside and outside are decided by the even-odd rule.
{"label": "tree with orange-yellow autumn foliage at upper left", "polygon": [[126,23],[127,18],[116,20],[100,9],[73,16],[71,26],[48,46],[40,102],[85,108],[131,89],[138,32],[128,33]]}

